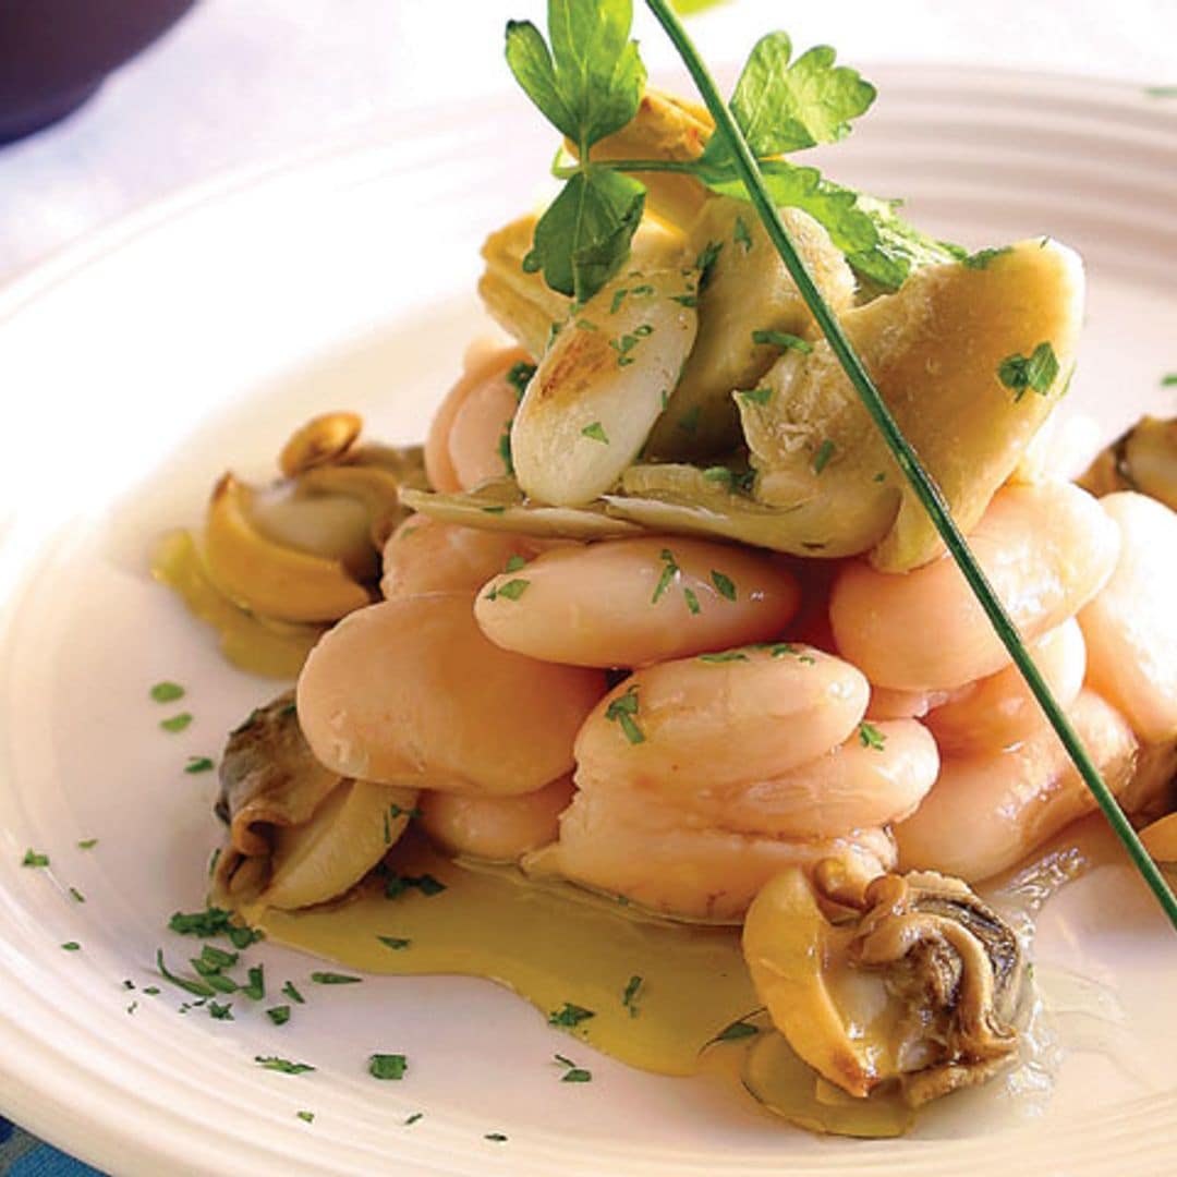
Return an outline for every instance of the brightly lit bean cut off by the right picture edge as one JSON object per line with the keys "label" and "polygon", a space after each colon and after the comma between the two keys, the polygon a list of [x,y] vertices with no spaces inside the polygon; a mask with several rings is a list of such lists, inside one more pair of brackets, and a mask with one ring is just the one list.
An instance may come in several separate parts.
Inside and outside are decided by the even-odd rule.
{"label": "brightly lit bean cut off by the right picture edge", "polygon": [[1123,537],[1103,591],[1079,613],[1088,679],[1145,743],[1177,736],[1177,512],[1124,491],[1099,500]]}

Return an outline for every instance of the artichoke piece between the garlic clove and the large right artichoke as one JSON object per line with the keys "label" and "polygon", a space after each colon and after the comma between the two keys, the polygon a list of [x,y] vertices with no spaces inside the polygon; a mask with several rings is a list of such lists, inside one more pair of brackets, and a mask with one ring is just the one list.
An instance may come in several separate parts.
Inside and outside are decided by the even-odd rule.
{"label": "artichoke piece between the garlic clove and the large right artichoke", "polygon": [[[830,234],[798,208],[782,208],[780,219],[831,308],[847,311],[855,275]],[[739,443],[732,392],[754,388],[782,352],[779,341],[757,343],[753,333],[799,339],[816,333],[805,300],[746,201],[707,200],[687,241],[692,257],[713,260],[699,292],[694,348],[650,437],[647,452],[654,458],[710,457]]]}

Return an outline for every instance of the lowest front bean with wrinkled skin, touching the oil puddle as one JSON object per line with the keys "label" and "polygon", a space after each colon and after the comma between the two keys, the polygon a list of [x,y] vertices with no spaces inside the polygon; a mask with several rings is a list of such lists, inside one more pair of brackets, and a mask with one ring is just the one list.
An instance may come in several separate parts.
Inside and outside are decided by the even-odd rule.
{"label": "lowest front bean with wrinkled skin, touching the oil puddle", "polygon": [[869,879],[895,865],[895,844],[879,829],[816,840],[732,833],[661,800],[581,790],[560,818],[559,842],[528,855],[524,869],[653,911],[738,920],[773,876],[798,865],[811,871],[829,858]]}

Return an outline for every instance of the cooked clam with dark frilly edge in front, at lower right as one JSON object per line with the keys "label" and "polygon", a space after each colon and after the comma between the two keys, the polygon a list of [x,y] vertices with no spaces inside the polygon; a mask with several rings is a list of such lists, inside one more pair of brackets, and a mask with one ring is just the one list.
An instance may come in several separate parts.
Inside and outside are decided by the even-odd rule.
{"label": "cooked clam with dark frilly edge in front, at lower right", "polygon": [[[823,905],[852,918],[832,923]],[[836,870],[812,885],[786,871],[753,900],[743,943],[773,1024],[851,1096],[897,1082],[918,1106],[1016,1058],[1020,946],[959,879],[883,875],[864,889]]]}

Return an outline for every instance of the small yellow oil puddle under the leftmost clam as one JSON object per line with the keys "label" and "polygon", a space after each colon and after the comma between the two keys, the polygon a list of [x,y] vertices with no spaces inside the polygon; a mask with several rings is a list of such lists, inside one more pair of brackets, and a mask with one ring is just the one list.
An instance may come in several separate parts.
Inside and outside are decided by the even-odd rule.
{"label": "small yellow oil puddle under the leftmost clam", "polygon": [[179,594],[188,611],[211,625],[225,657],[266,678],[295,678],[322,630],[264,620],[230,600],[210,579],[200,546],[189,531],[173,531],[155,545],[152,576]]}

